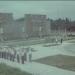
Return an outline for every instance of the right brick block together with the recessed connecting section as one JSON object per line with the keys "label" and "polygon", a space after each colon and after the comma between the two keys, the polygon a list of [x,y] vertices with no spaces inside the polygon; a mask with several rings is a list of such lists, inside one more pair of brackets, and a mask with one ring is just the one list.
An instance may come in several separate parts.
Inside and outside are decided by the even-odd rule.
{"label": "right brick block together with the recessed connecting section", "polygon": [[43,37],[50,33],[50,20],[46,15],[25,14],[15,21],[16,37]]}

